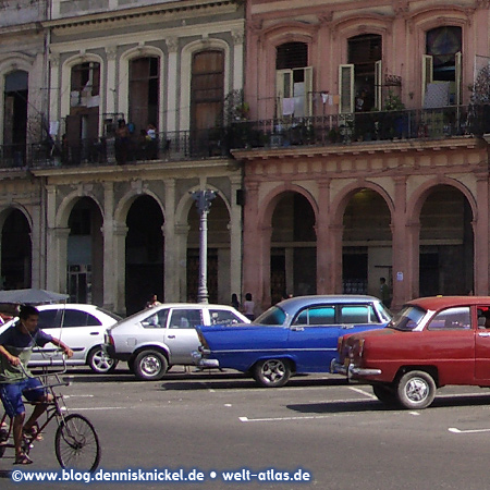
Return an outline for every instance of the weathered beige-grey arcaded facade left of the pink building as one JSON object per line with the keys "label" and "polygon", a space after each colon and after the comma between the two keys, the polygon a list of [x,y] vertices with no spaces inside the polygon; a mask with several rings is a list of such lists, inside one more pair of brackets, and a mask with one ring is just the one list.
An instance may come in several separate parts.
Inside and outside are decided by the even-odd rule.
{"label": "weathered beige-grey arcaded facade left of the pink building", "polygon": [[[1,61],[2,148],[9,95],[20,91],[11,79],[28,93],[13,120],[30,121],[32,105],[41,120],[39,134],[24,131],[15,158],[2,160],[4,285],[66,291],[120,313],[152,294],[195,299],[199,216],[191,193],[211,189],[209,299],[228,303],[241,287],[242,169],[217,128],[243,89],[243,8],[84,5],[47,3],[34,61],[23,63],[21,30]],[[20,29],[22,20],[13,21]],[[3,252],[17,242],[26,245],[11,250],[19,256],[11,271]]]}

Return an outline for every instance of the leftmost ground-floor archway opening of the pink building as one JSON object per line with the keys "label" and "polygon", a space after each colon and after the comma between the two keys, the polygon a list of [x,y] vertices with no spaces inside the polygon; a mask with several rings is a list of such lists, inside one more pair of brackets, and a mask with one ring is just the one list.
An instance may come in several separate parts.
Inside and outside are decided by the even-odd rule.
{"label": "leftmost ground-floor archway opening of the pink building", "polygon": [[272,304],[284,295],[317,292],[315,212],[305,196],[284,193],[272,213],[270,294]]}

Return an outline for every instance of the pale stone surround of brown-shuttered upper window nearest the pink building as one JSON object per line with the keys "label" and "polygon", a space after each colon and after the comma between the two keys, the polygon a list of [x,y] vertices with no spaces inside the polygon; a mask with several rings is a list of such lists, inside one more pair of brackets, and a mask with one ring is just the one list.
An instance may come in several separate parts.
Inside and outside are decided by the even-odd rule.
{"label": "pale stone surround of brown-shuttered upper window nearest the pink building", "polygon": [[232,57],[230,45],[222,39],[206,38],[199,39],[184,46],[181,52],[181,71],[180,71],[180,107],[184,108],[180,113],[179,128],[180,131],[188,131],[191,128],[191,77],[192,77],[192,59],[193,54],[198,51],[208,49],[220,49],[224,52],[224,94],[232,89]]}

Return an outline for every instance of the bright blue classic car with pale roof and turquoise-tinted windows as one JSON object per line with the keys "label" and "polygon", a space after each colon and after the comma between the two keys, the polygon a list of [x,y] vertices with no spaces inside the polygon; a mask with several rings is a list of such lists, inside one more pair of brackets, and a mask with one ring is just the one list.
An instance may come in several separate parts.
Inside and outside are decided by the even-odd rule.
{"label": "bright blue classic car with pale roof and turquoise-tinted windows", "polygon": [[197,366],[248,372],[258,384],[284,385],[292,373],[329,372],[340,336],[380,329],[391,320],[380,299],[363,295],[298,296],[252,323],[201,326]]}

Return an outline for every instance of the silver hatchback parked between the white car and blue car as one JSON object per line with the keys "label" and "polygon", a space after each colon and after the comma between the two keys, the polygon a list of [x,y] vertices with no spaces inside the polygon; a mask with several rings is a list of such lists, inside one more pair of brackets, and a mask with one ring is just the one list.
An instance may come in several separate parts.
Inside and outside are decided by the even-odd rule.
{"label": "silver hatchback parked between the white car and blue car", "polygon": [[249,320],[231,306],[163,304],[138,311],[107,331],[106,350],[113,359],[125,360],[136,378],[158,380],[173,365],[194,365],[198,348],[196,327],[228,328]]}

